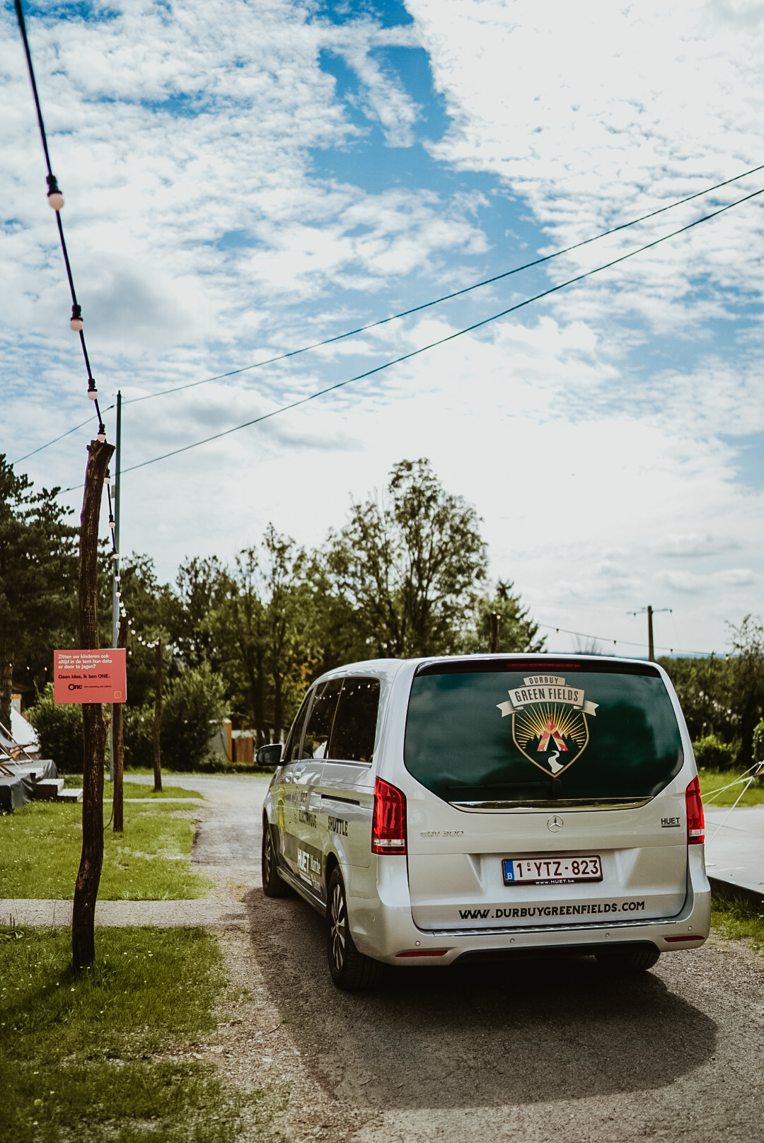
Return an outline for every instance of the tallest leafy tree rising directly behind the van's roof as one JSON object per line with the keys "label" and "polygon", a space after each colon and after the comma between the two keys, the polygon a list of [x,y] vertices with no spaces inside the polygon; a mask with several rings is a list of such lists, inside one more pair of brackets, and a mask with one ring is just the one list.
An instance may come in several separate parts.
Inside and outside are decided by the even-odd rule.
{"label": "tallest leafy tree rising directly behind the van's roof", "polygon": [[459,647],[463,615],[486,576],[475,509],[446,493],[430,462],[393,465],[385,495],[353,504],[331,533],[331,594],[355,634],[357,657],[438,655]]}

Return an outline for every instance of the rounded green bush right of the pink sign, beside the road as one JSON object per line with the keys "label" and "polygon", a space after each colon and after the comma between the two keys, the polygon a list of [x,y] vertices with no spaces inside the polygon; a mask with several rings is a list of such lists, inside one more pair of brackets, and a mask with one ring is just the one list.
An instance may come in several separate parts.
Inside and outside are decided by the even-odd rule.
{"label": "rounded green bush right of the pink sign, beside the road", "polygon": [[173,679],[162,703],[162,766],[194,769],[207,757],[212,732],[224,717],[223,680],[213,674],[208,663]]}

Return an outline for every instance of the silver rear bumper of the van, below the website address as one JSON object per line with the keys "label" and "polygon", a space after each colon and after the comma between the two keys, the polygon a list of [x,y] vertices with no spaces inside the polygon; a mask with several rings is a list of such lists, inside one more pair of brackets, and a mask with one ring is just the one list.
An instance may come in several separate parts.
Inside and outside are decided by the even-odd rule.
{"label": "silver rear bumper of the van, below the website address", "polygon": [[[360,924],[356,925],[351,906],[350,922],[359,950],[390,965],[451,965],[467,958],[468,953],[470,960],[482,953],[490,953],[490,959],[496,959],[504,953],[534,950],[586,956],[606,948],[645,942],[655,945],[660,952],[677,952],[699,948],[710,929],[711,890],[706,877],[702,846],[687,847],[687,892],[684,905],[674,917],[639,920],[631,917],[623,920],[610,918],[596,924],[421,929],[414,924],[411,912],[406,858],[389,857],[384,865],[382,884],[377,882],[381,910],[375,910],[371,932],[364,932],[365,910],[357,914]],[[427,956],[430,949],[432,957]],[[401,957],[400,953],[407,956]]]}

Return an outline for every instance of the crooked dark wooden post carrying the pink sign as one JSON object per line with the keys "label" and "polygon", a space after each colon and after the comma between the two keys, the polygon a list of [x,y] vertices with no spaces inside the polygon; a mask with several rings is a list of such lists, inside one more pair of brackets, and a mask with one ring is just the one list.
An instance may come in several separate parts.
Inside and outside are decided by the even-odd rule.
{"label": "crooked dark wooden post carrying the pink sign", "polygon": [[[80,649],[98,647],[98,518],[106,467],[113,445],[91,440],[80,517]],[[103,865],[103,768],[106,722],[101,703],[82,704],[82,856],[72,905],[72,964],[87,968],[95,960],[95,904]]]}

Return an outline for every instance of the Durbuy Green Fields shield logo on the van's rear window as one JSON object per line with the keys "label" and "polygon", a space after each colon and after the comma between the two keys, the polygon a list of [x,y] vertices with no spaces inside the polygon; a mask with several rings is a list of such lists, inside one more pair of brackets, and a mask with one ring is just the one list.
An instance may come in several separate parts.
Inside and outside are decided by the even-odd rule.
{"label": "Durbuy Green Fields shield logo on the van's rear window", "polygon": [[544,774],[557,776],[580,758],[589,743],[587,717],[599,703],[584,698],[556,674],[532,674],[509,692],[509,702],[496,703],[501,717],[512,718],[515,745]]}

